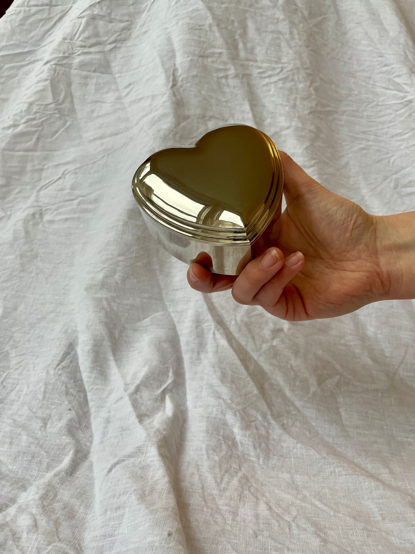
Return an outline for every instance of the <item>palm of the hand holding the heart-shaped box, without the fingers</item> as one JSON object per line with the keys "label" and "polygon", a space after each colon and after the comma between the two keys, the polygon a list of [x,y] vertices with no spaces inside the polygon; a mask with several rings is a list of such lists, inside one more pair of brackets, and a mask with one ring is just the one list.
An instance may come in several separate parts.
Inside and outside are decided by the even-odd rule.
{"label": "palm of the hand holding the heart-shaped box, without the fingers", "polygon": [[373,217],[313,180],[303,194],[286,198],[271,242],[284,255],[300,250],[305,256],[303,269],[284,288],[290,319],[343,315],[373,301],[378,275]]}

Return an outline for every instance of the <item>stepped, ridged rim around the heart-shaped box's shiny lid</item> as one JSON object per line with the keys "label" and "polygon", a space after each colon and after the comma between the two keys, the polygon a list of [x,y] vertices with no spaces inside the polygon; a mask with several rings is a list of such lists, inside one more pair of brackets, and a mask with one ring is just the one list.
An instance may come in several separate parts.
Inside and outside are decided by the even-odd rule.
{"label": "stepped, ridged rim around the heart-shaped box's shiny lid", "polygon": [[[221,129],[221,127],[218,127],[218,129]],[[215,222],[215,226],[200,224],[196,221],[190,221],[184,211],[181,212],[165,202],[160,202],[160,199],[154,193],[153,187],[144,181],[146,176],[151,173],[149,161],[152,156],[148,157],[134,173],[132,180],[134,198],[149,217],[178,235],[222,246],[252,244],[271,222],[281,201],[283,189],[283,168],[279,152],[273,141],[262,131],[259,132],[266,139],[271,152],[273,160],[272,181],[266,199],[246,227],[241,225],[230,227],[229,223],[222,224],[218,221]],[[198,142],[196,142],[196,145]]]}

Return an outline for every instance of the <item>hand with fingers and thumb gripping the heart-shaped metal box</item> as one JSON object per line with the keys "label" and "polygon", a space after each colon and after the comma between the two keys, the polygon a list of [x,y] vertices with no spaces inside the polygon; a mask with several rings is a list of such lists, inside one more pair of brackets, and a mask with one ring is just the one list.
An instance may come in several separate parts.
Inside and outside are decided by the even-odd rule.
{"label": "hand with fingers and thumb gripping the heart-shaped metal box", "polygon": [[200,253],[188,270],[190,286],[202,293],[232,289],[240,304],[288,321],[339,316],[387,297],[378,218],[280,155],[287,208],[268,228],[263,249],[271,248],[237,277],[211,273],[209,255]]}

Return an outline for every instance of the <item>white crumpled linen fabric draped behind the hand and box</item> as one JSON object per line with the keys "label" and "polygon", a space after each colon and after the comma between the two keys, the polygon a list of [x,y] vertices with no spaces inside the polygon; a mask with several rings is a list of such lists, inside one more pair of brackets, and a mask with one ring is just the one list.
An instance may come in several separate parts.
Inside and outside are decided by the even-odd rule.
{"label": "white crumpled linen fabric draped behind the hand and box", "polygon": [[253,125],[415,209],[412,0],[15,0],[0,20],[0,551],[415,552],[414,302],[201,295],[131,193]]}

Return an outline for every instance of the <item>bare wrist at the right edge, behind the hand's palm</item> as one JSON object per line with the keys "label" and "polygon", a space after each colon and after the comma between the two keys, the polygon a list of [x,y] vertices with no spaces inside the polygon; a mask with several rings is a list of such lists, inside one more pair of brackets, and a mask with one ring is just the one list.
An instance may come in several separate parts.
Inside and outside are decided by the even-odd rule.
{"label": "bare wrist at the right edge, behind the hand's palm", "polygon": [[415,212],[373,216],[378,300],[415,298]]}

